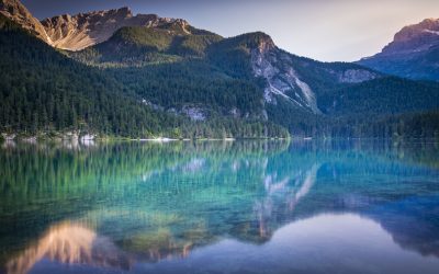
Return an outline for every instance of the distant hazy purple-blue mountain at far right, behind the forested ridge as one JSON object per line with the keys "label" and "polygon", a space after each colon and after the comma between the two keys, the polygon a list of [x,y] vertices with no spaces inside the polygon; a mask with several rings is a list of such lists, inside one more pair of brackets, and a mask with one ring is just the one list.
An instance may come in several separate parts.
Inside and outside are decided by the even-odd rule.
{"label": "distant hazy purple-blue mountain at far right, behind the forested ridge", "polygon": [[439,19],[403,27],[381,53],[358,64],[404,78],[439,81]]}

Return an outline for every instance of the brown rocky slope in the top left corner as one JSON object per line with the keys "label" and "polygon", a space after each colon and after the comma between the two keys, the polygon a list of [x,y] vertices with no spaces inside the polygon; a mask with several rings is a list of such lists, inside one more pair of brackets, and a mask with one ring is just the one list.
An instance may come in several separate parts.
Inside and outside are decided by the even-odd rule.
{"label": "brown rocky slope in the top left corner", "polygon": [[44,26],[18,0],[0,0],[0,13],[19,23],[23,28],[50,44]]}

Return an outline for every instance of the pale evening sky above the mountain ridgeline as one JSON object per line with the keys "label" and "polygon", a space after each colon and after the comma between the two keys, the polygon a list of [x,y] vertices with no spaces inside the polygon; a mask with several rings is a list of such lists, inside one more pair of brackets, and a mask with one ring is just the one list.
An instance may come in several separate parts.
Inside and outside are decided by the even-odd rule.
{"label": "pale evening sky above the mountain ridgeline", "polygon": [[225,37],[262,31],[277,46],[323,61],[374,55],[403,26],[439,18],[439,0],[22,0],[38,19],[130,7],[181,18]]}

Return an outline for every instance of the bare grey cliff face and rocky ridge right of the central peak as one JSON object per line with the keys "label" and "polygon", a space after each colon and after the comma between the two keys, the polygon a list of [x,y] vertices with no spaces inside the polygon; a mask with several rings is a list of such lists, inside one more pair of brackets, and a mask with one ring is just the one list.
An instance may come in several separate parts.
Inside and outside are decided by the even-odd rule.
{"label": "bare grey cliff face and rocky ridge right of the central peak", "polygon": [[[317,106],[317,96],[324,91],[318,85],[327,84],[327,89],[330,89],[330,85],[360,83],[380,77],[360,66],[340,65],[291,55],[279,49],[268,35],[259,42],[258,47],[251,49],[252,71],[256,77],[266,80],[266,102],[277,104],[278,100],[285,99],[314,114],[322,113]],[[318,84],[323,81],[327,83]]]}

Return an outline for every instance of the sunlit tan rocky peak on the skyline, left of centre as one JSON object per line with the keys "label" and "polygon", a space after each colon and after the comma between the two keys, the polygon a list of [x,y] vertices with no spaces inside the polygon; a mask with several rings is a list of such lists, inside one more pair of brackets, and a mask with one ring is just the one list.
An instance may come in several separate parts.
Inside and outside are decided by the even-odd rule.
{"label": "sunlit tan rocky peak on the skyline, left of centre", "polygon": [[64,14],[45,19],[42,24],[53,45],[68,50],[80,50],[102,43],[124,26],[157,27],[179,24],[181,30],[190,32],[184,20],[159,18],[155,14],[133,15],[128,8],[79,13],[74,16]]}

